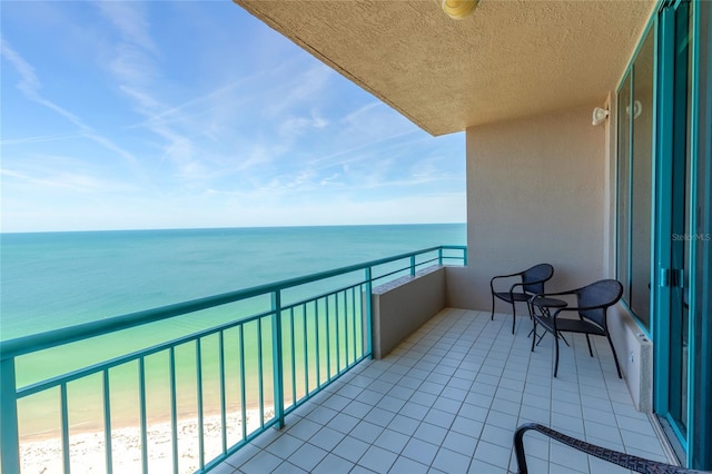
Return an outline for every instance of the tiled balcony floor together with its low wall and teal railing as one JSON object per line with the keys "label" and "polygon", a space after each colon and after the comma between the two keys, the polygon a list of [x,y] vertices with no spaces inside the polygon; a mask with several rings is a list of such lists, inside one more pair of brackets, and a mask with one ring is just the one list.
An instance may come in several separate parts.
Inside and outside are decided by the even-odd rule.
{"label": "tiled balcony floor together with its low wall and teal railing", "polygon": [[[607,344],[594,338],[590,357],[585,339],[570,338],[553,378],[551,336],[531,352],[527,319],[513,335],[508,315],[446,307],[455,268],[444,264],[466,265],[465,250],[435,247],[3,342],[2,472],[496,473],[516,470],[514,429],[528,422],[669,462]],[[210,324],[169,330],[187,320]],[[105,337],[136,347],[100,354]],[[75,344],[83,357],[28,379],[42,361],[32,357]],[[117,418],[127,403],[132,424]],[[52,427],[36,442],[40,422]],[[531,472],[615,472],[537,434],[525,446]]]}

